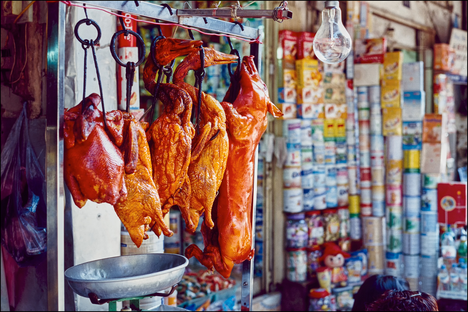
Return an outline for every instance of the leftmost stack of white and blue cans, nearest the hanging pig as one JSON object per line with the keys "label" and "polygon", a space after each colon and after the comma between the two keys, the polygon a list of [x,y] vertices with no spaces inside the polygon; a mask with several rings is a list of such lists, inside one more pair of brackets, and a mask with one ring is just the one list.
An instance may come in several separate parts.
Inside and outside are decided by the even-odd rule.
{"label": "leftmost stack of white and blue cans, nearest the hanging pig", "polygon": [[285,120],[286,162],[283,168],[283,209],[285,212],[303,210],[301,180],[301,119]]}

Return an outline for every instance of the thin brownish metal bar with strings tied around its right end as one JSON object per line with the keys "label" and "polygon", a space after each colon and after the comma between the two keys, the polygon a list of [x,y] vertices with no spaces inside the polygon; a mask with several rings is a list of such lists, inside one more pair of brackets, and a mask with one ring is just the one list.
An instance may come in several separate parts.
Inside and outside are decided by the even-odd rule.
{"label": "thin brownish metal bar with strings tied around its right end", "polygon": [[[292,19],[292,12],[282,10],[282,16],[287,19]],[[239,18],[272,18],[273,10],[243,10],[239,9],[236,12]],[[230,9],[183,9],[177,10],[179,16],[202,16],[202,17],[231,17]]]}

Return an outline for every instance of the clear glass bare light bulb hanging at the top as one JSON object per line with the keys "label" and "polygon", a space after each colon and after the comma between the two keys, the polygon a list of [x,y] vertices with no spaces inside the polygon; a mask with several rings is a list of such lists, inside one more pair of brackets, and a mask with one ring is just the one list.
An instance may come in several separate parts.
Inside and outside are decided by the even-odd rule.
{"label": "clear glass bare light bulb hanging at the top", "polygon": [[339,1],[325,1],[322,25],[314,37],[314,53],[327,64],[343,61],[351,52],[351,36],[341,22]]}

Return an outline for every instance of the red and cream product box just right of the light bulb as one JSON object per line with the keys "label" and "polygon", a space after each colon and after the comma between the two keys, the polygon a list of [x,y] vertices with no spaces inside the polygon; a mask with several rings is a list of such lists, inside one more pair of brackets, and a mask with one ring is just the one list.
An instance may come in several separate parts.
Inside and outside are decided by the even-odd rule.
{"label": "red and cream product box just right of the light bulb", "polygon": [[354,63],[383,63],[385,52],[387,52],[385,38],[356,40]]}

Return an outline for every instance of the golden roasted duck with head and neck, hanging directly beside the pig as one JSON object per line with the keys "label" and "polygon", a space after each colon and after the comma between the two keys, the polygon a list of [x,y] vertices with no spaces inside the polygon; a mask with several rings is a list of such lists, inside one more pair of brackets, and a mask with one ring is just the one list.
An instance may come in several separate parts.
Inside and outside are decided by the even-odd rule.
{"label": "golden roasted duck with head and neck, hanging directly beside the pig", "polygon": [[[210,48],[204,48],[205,67],[216,64],[234,63],[237,56],[221,53]],[[183,79],[190,70],[200,69],[200,52],[190,53],[177,66],[172,82],[188,92],[193,105],[198,105],[198,89],[184,82]],[[185,223],[193,223],[189,230],[195,232],[198,220],[205,212],[205,223],[214,226],[211,218],[211,208],[216,192],[226,169],[228,138],[226,132],[226,115],[223,108],[211,95],[202,92],[200,114],[200,134],[192,140],[189,179],[191,192],[184,185],[181,196],[185,202],[190,201],[190,215],[182,215]],[[189,221],[189,219],[191,219]]]}

